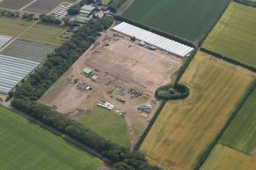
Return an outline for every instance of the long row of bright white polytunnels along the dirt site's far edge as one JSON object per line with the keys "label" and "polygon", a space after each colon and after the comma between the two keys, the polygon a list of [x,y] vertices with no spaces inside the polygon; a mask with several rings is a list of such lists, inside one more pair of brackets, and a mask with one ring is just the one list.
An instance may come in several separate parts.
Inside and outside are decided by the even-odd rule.
{"label": "long row of bright white polytunnels along the dirt site's far edge", "polygon": [[187,56],[194,50],[192,47],[188,47],[182,43],[167,39],[125,22],[113,27],[112,30],[125,34],[128,37],[135,37],[136,39],[144,41],[145,43],[157,47],[160,50],[164,50],[168,53],[173,53],[174,55],[181,57]]}

